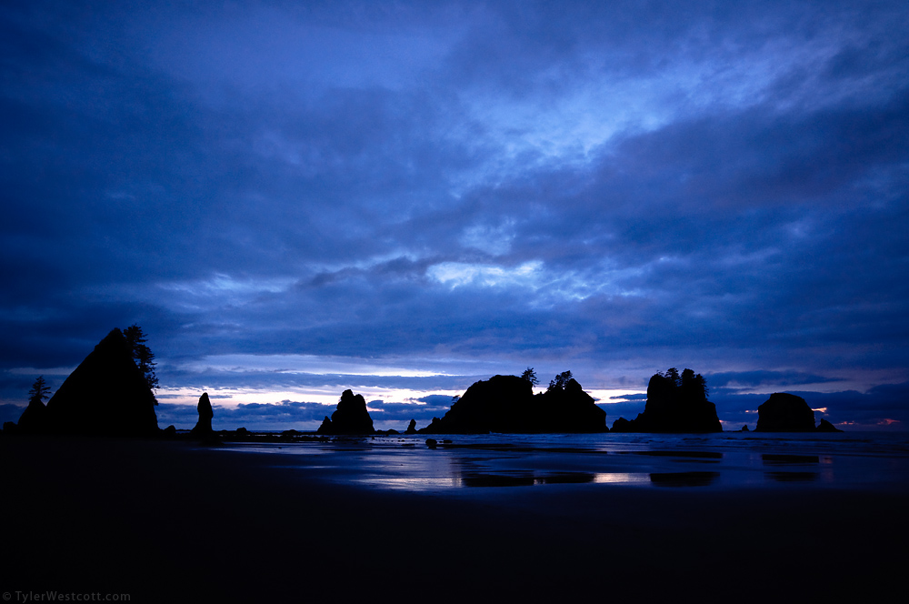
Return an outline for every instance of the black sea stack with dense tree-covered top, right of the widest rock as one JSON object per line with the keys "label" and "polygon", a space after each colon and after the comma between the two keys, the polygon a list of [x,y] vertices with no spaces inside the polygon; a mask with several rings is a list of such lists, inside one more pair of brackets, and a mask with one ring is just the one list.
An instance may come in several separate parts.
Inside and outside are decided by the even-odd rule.
{"label": "black sea stack with dense tree-covered top, right of the widest rock", "polygon": [[670,368],[657,373],[647,385],[644,413],[628,421],[613,422],[614,432],[722,432],[716,406],[707,400],[707,387],[701,374]]}

